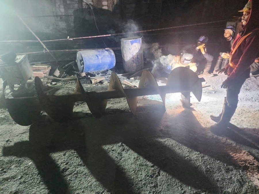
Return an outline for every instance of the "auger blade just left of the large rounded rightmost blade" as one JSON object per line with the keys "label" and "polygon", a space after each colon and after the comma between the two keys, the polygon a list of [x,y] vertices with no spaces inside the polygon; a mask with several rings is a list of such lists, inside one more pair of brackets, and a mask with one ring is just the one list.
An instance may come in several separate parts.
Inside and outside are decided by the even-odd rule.
{"label": "auger blade just left of the large rounded rightmost blade", "polygon": [[157,80],[150,71],[144,70],[142,72],[138,88],[152,88],[153,90],[155,90],[157,94],[161,96],[165,110],[165,95],[161,94],[159,86],[157,84]]}

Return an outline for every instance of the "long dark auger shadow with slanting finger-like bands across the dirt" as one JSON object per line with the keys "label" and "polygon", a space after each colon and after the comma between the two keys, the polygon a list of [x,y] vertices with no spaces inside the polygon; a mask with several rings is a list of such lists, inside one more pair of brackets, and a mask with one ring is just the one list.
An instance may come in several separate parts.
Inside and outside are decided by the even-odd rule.
{"label": "long dark auger shadow with slanting finger-like bands across the dirt", "polygon": [[50,193],[70,193],[68,183],[50,153],[74,149],[96,180],[108,191],[138,193],[134,188],[136,185],[102,147],[122,142],[180,182],[218,193],[218,186],[213,180],[156,139],[170,138],[224,163],[238,166],[231,155],[224,151],[224,145],[207,135],[207,129],[200,125],[192,110],[184,110],[173,116],[163,112],[161,103],[151,103],[152,106],[138,107],[137,116],[123,113],[67,123],[42,118],[42,122],[31,125],[29,141],[3,147],[3,155],[31,158]]}

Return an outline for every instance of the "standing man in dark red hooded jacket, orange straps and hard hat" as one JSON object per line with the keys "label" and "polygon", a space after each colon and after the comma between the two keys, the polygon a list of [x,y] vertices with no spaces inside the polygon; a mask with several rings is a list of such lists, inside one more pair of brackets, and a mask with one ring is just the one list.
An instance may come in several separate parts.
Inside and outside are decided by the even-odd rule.
{"label": "standing man in dark red hooded jacket, orange straps and hard hat", "polygon": [[250,65],[259,57],[259,0],[249,0],[240,11],[243,16],[239,34],[231,47],[229,64],[223,69],[228,75],[221,85],[226,89],[224,106],[219,116],[210,116],[217,122],[210,127],[212,130],[227,128],[237,108],[240,89],[250,77]]}

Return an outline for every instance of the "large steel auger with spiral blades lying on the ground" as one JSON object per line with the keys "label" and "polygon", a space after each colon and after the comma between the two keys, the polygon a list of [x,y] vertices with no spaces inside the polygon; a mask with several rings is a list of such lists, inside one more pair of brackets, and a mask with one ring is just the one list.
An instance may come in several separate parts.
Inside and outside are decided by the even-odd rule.
{"label": "large steel auger with spiral blades lying on the ground", "polygon": [[[137,97],[159,94],[165,110],[165,95],[167,93],[182,93],[185,106],[190,106],[190,92],[193,92],[198,101],[201,101],[202,80],[188,68],[178,67],[168,77],[166,86],[158,86],[153,74],[148,70],[142,72],[139,87],[123,89],[118,76],[111,74],[107,91],[85,92],[79,79],[74,93],[66,95],[47,95],[43,92],[43,84],[36,77],[35,88],[38,97],[5,98],[7,110],[13,120],[23,126],[28,126],[37,121],[43,109],[52,119],[64,122],[71,119],[75,102],[85,101],[94,117],[100,118],[105,113],[107,99],[127,99],[132,113],[136,114]],[[7,83],[3,84],[3,91]]]}

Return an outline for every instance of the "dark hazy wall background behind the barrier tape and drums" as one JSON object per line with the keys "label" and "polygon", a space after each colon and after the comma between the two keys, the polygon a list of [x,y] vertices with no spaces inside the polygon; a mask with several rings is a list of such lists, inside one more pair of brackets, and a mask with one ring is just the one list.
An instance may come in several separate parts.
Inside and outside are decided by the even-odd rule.
{"label": "dark hazy wall background behind the barrier tape and drums", "polygon": [[[141,36],[144,43],[184,45],[193,44],[199,36],[207,35],[209,43],[216,47],[227,21],[239,20],[241,14],[238,10],[247,0],[107,0],[107,6],[102,5],[100,0],[86,2],[93,6],[82,0],[2,1],[0,13],[5,20],[0,21],[0,41],[36,40],[15,13],[42,41],[226,20],[167,30],[44,43],[49,50],[116,48],[120,47],[121,38]],[[0,55],[9,51],[42,50],[38,42],[0,43]]]}

